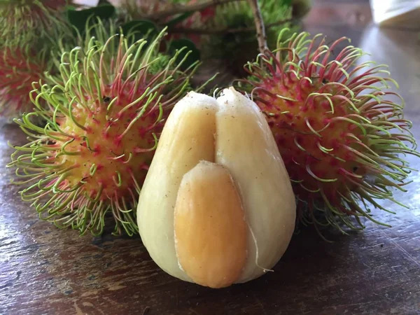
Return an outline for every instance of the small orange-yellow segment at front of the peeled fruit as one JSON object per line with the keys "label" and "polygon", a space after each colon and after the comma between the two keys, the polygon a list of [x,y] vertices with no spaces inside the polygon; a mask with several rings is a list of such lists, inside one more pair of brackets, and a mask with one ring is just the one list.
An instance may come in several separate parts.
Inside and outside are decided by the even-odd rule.
{"label": "small orange-yellow segment at front of the peeled fruit", "polygon": [[202,161],[183,176],[174,231],[179,265],[195,283],[223,288],[239,278],[247,226],[228,169]]}

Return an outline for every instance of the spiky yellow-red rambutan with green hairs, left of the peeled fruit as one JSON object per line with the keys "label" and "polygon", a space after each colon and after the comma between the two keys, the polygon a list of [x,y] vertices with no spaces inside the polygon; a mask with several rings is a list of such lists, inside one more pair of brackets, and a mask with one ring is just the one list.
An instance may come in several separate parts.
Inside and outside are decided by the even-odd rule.
{"label": "spiky yellow-red rambutan with green hairs, left of the peeled fruit", "polygon": [[[61,78],[31,93],[36,110],[15,120],[30,142],[14,146],[8,166],[17,168],[27,186],[22,199],[41,218],[100,235],[111,214],[114,234],[137,234],[148,165],[165,118],[195,70],[179,70],[188,54],[179,63],[178,54],[158,52],[164,35],[150,43],[123,34],[106,43],[92,38],[86,48],[64,52]],[[45,128],[31,123],[33,116],[44,118]]]}

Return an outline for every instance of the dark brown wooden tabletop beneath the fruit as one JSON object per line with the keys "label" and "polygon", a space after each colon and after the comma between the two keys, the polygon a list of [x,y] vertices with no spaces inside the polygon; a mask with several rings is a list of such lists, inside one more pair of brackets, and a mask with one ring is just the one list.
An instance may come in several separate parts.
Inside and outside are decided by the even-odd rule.
{"label": "dark brown wooden tabletop beneath the fruit", "polygon": [[[305,28],[354,45],[389,64],[420,139],[420,43],[415,32],[370,25],[364,1],[317,5]],[[0,127],[0,314],[420,314],[420,176],[410,193],[397,194],[410,209],[393,225],[367,223],[364,232],[333,236],[311,230],[295,235],[275,272],[243,285],[211,290],[162,272],[139,237],[78,237],[39,221],[20,201],[3,168],[22,133]],[[414,167],[420,161],[414,158]]]}

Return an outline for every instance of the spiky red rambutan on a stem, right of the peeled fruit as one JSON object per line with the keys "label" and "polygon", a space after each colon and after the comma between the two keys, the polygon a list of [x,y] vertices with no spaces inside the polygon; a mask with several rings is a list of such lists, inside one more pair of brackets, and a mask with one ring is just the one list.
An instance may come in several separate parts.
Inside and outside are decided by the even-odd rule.
{"label": "spiky red rambutan on a stem, right of the peeled fruit", "polygon": [[267,117],[302,223],[342,232],[343,223],[365,228],[360,217],[386,225],[367,204],[385,211],[379,200],[400,204],[393,190],[405,191],[412,170],[401,155],[419,156],[404,102],[384,66],[357,64],[364,53],[351,45],[339,51],[346,38],[328,46],[321,34],[308,37],[294,34],[248,63],[251,76],[238,89],[251,93]]}

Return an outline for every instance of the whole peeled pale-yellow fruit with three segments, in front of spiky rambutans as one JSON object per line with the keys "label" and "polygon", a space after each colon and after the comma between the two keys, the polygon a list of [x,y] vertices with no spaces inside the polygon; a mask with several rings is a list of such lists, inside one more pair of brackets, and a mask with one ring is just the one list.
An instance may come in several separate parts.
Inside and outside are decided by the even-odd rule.
{"label": "whole peeled pale-yellow fruit with three segments, in front of spiky rambutans", "polygon": [[296,218],[288,174],[258,106],[232,88],[223,94],[215,100],[190,92],[176,104],[137,207],[153,260],[214,288],[274,267]]}

